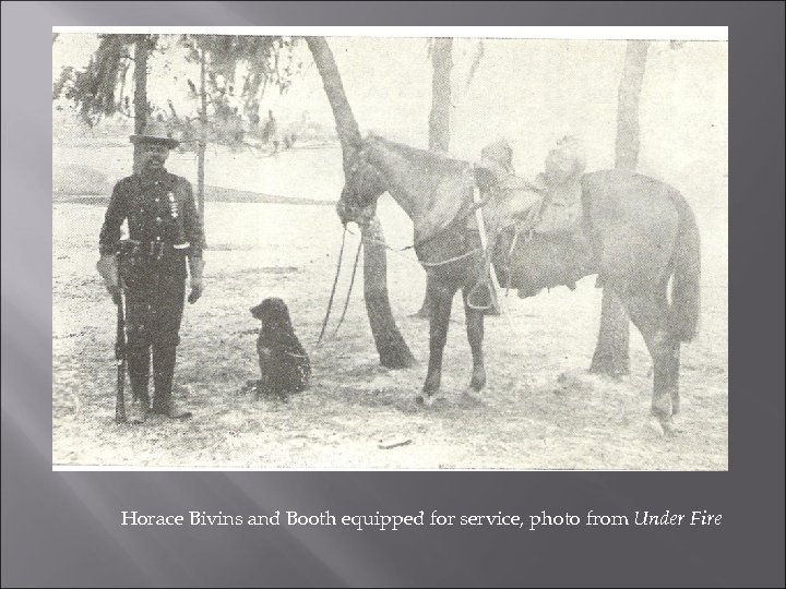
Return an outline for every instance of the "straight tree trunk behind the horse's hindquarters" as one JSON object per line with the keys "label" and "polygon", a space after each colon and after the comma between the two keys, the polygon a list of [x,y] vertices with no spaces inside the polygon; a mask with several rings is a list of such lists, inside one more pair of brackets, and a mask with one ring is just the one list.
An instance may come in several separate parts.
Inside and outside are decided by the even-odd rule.
{"label": "straight tree trunk behind the horse's hindquarters", "polygon": [[[617,106],[616,167],[618,169],[634,170],[639,160],[639,100],[648,47],[650,41],[628,41]],[[604,288],[600,332],[590,371],[614,376],[628,374],[629,349],[628,313],[614,290]]]}

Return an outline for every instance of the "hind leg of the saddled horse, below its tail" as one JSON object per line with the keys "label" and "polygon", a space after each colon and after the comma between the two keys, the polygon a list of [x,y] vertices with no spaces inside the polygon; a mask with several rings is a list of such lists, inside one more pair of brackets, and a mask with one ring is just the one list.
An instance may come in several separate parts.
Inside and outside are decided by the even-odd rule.
{"label": "hind leg of the saddled horse, below its tail", "polygon": [[[662,292],[663,290],[663,292]],[[665,287],[657,292],[624,297],[631,321],[646,342],[654,364],[652,412],[667,433],[679,411],[679,339],[668,329]]]}

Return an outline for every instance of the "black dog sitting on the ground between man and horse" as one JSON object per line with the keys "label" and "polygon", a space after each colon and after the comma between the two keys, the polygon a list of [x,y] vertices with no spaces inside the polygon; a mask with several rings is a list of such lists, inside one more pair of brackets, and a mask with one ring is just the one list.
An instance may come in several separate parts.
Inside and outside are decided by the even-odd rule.
{"label": "black dog sitting on the ground between man and horse", "polygon": [[311,378],[311,362],[295,335],[284,301],[265,299],[251,309],[251,314],[262,322],[257,339],[261,372],[257,396],[285,396],[307,388]]}

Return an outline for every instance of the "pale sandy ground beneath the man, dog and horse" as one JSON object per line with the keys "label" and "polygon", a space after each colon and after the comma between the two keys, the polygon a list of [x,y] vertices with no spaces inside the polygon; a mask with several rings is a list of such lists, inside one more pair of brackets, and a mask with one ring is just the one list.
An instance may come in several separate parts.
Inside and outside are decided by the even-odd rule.
{"label": "pale sandy ground beneath the man, dog and horse", "polygon": [[[210,178],[209,178],[210,181]],[[724,185],[720,178],[713,185]],[[340,187],[319,195],[335,199]],[[484,401],[462,396],[471,353],[460,297],[445,348],[445,399],[422,409],[414,397],[428,361],[428,323],[410,317],[425,273],[410,252],[389,255],[391,302],[418,363],[379,365],[358,269],[347,317],[335,321],[348,286],[345,266],[330,337],[317,346],[341,242],[331,206],[207,203],[206,291],[187,305],[176,395],[194,419],[114,423],[115,308],[95,271],[104,207],[52,205],[52,461],[55,465],[260,469],[636,469],[728,468],[726,193],[693,194],[703,240],[702,332],[682,348],[682,433],[647,426],[651,360],[631,332],[631,375],[586,373],[602,291],[594,277],[520,300],[487,318]],[[395,204],[379,208],[389,242],[410,242]],[[357,237],[349,236],[354,253]],[[345,259],[352,259],[347,254]],[[255,378],[257,322],[249,308],[282,297],[311,354],[313,384],[288,401],[242,392]],[[407,442],[393,448],[380,440]]]}

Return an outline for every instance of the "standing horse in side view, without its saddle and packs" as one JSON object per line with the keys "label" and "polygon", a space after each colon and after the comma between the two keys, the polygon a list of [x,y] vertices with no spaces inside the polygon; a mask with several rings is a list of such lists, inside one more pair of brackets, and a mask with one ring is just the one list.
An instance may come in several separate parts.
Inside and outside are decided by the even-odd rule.
{"label": "standing horse in side view, without its saddle and packs", "polygon": [[[431,300],[429,362],[422,394],[430,405],[439,392],[452,301],[462,290],[473,372],[467,392],[486,385],[484,311],[469,304],[473,288],[488,265],[471,229],[473,199],[480,169],[467,161],[369,135],[350,159],[336,211],[341,221],[368,223],[379,196],[388,192],[409,216],[414,249],[427,273]],[[488,188],[488,187],[487,187]],[[653,360],[652,416],[665,433],[675,433],[680,409],[680,344],[696,334],[700,314],[700,241],[695,217],[675,188],[626,170],[581,177],[583,217],[570,237],[503,233],[493,244],[500,283],[526,297],[545,287],[574,285],[598,275],[612,289],[641,332]],[[669,301],[670,283],[670,301]]]}

